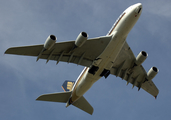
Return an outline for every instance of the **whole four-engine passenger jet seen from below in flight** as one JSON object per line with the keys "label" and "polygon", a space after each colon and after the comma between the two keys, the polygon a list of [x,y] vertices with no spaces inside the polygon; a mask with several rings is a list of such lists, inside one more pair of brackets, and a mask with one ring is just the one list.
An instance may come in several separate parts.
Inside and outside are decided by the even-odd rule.
{"label": "whole four-engine passenger jet seen from below in flight", "polygon": [[106,36],[88,39],[86,32],[81,32],[76,40],[56,43],[57,38],[50,35],[44,44],[33,46],[12,47],[5,54],[35,56],[39,59],[74,63],[85,66],[77,80],[65,81],[62,85],[64,92],[44,94],[36,100],[62,102],[66,107],[75,107],[93,114],[93,107],[83,97],[91,86],[101,77],[110,74],[126,80],[138,91],[142,88],[155,98],[159,90],[152,79],[159,72],[157,67],[151,67],[146,72],[142,63],[148,54],[141,51],[137,57],[126,42],[131,31],[142,13],[142,4],[137,3],[128,7],[113,24]]}

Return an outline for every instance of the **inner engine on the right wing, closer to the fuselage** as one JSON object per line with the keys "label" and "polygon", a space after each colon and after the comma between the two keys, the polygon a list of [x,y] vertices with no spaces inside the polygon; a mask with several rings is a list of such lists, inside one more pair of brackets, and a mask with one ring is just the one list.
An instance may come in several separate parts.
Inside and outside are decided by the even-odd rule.
{"label": "inner engine on the right wing, closer to the fuselage", "polygon": [[136,58],[135,64],[141,65],[145,61],[147,56],[148,56],[148,54],[145,51],[141,51]]}

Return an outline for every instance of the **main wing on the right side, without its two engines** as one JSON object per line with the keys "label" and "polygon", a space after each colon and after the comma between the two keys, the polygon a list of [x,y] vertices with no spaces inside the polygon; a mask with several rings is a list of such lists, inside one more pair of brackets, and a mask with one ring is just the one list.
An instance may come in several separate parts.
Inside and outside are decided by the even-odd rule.
{"label": "main wing on the right side, without its two engines", "polygon": [[159,90],[155,86],[152,80],[147,80],[147,72],[144,70],[142,65],[133,67],[135,62],[135,56],[130,49],[127,42],[125,42],[121,52],[119,53],[114,65],[110,71],[111,74],[116,77],[121,77],[122,79],[131,83],[134,86],[143,88],[145,91],[157,97]]}

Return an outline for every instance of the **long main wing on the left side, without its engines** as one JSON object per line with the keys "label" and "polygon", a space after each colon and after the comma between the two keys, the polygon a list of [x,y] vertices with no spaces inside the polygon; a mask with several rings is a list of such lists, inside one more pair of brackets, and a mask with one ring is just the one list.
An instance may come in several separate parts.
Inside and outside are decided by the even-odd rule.
{"label": "long main wing on the left side, without its engines", "polygon": [[[75,63],[77,65],[89,67],[93,60],[97,58],[101,52],[108,45],[111,36],[104,36],[98,38],[88,39],[82,47],[78,47],[72,52],[75,41],[59,42],[50,49],[46,50],[40,56],[40,59],[55,60]],[[12,47],[5,51],[5,54],[25,55],[25,56],[38,56],[43,49],[42,45]]]}

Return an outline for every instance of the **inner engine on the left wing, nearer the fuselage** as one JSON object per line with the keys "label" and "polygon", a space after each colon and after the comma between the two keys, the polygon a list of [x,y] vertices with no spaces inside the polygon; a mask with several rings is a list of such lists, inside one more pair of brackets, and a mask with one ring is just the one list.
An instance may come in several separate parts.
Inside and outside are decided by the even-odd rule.
{"label": "inner engine on the left wing, nearer the fuselage", "polygon": [[87,38],[88,38],[87,33],[81,32],[75,41],[76,47],[81,47],[86,42]]}

